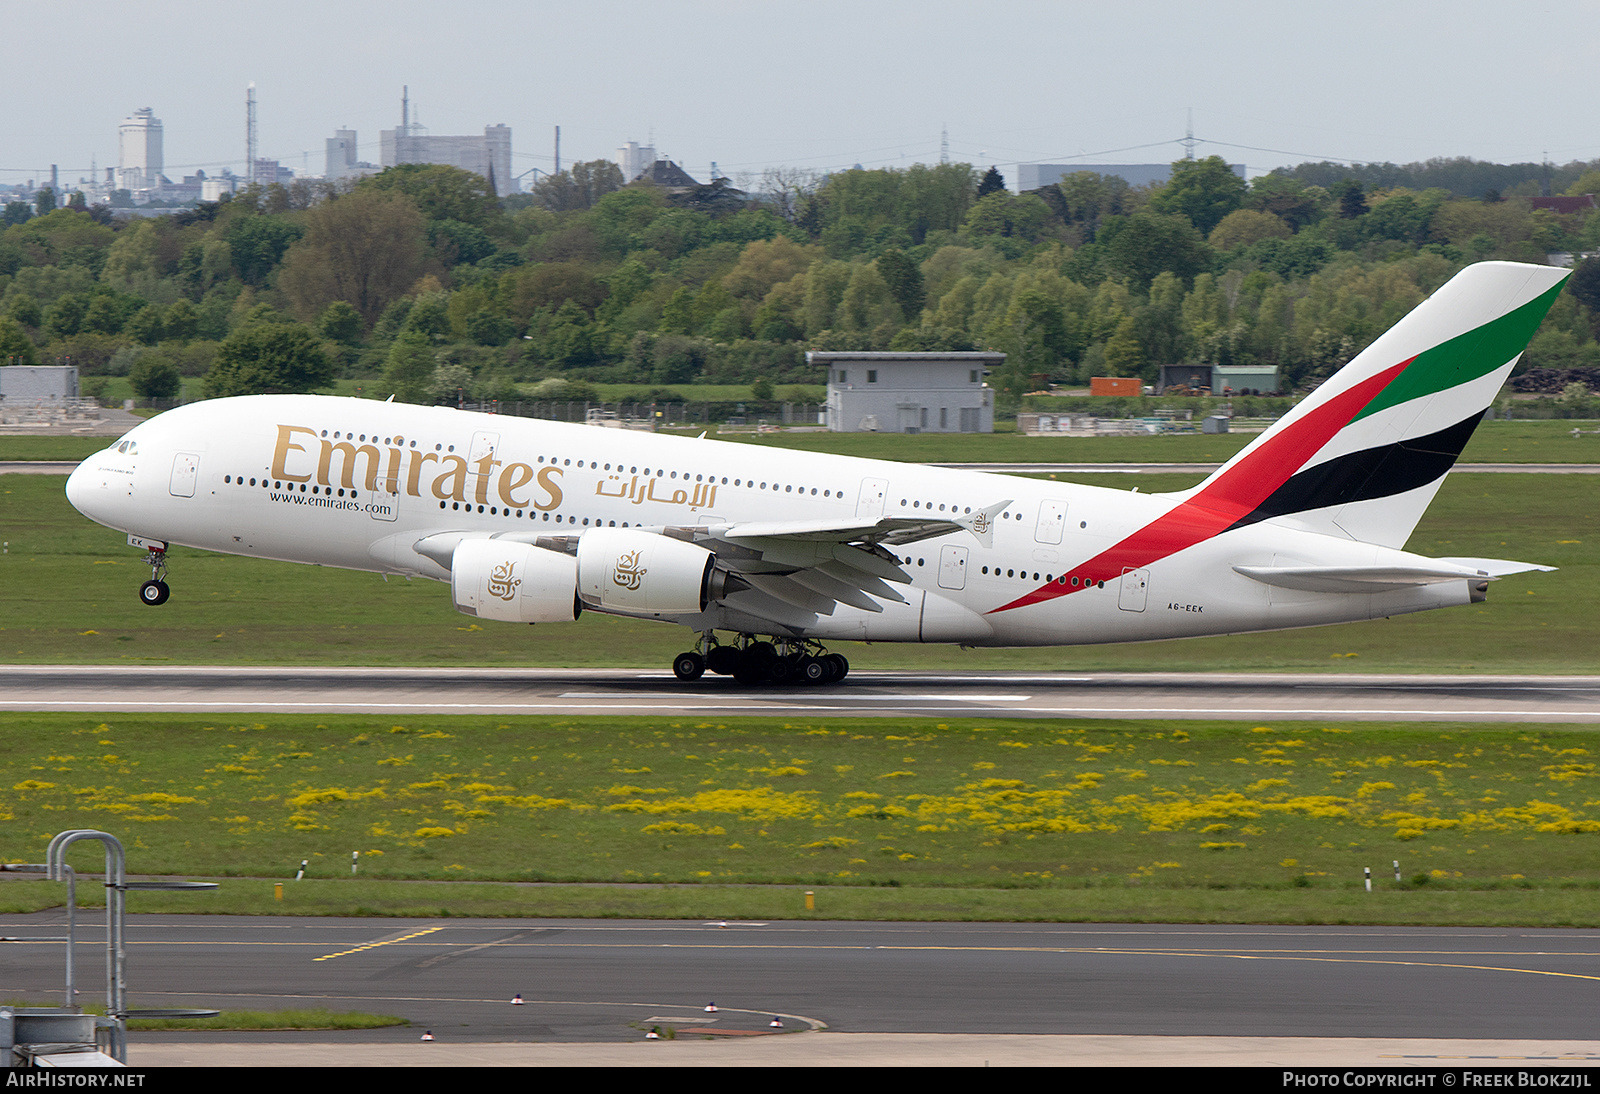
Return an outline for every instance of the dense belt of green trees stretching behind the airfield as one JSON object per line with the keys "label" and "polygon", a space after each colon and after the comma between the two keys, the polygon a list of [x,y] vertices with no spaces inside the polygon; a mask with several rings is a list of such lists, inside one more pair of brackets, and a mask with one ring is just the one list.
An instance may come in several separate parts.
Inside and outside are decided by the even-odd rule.
{"label": "dense belt of green trees stretching behind the airfield", "polygon": [[[72,360],[90,385],[128,376],[157,397],[184,376],[208,395],[344,377],[454,401],[770,389],[821,379],[806,349],[989,349],[1010,355],[1003,398],[1170,363],[1269,363],[1288,390],[1467,262],[1600,251],[1600,211],[1531,200],[1550,178],[1600,192],[1600,162],[1530,166],[1246,182],[1211,157],[1158,186],[1077,173],[1027,194],[970,165],[774,170],[744,194],[624,186],[602,160],[496,198],[458,168],[403,165],[131,219],[43,192],[3,210],[0,360]],[[1590,259],[1526,365],[1600,365],[1597,317]]]}

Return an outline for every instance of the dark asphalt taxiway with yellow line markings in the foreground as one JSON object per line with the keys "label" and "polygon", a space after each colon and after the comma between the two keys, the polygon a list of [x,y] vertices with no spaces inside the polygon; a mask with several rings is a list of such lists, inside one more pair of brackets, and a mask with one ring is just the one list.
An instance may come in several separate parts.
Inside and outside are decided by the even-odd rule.
{"label": "dark asphalt taxiway with yellow line markings in the foreground", "polygon": [[[59,998],[61,944],[21,939],[59,936],[61,916],[0,916],[11,998]],[[78,947],[85,1001],[98,942]],[[208,1035],[246,1044],[742,1038],[778,1033],[774,1017],[782,1032],[1589,1043],[1600,931],[138,915],[126,968],[134,1008],[411,1020]]]}

